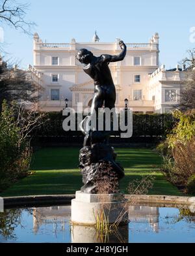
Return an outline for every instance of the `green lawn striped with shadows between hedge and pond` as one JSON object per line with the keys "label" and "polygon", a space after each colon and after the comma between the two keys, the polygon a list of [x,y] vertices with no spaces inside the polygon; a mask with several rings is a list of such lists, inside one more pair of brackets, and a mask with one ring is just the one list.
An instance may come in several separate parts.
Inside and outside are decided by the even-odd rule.
{"label": "green lawn striped with shadows between hedge and pond", "polygon": [[[125,168],[125,178],[121,191],[127,193],[131,180],[155,172],[155,184],[151,195],[181,195],[168,183],[158,167],[161,157],[148,149],[117,148],[118,161]],[[35,174],[20,180],[1,193],[1,197],[20,195],[74,194],[82,186],[82,176],[78,169],[79,148],[44,148],[34,153],[31,170]]]}

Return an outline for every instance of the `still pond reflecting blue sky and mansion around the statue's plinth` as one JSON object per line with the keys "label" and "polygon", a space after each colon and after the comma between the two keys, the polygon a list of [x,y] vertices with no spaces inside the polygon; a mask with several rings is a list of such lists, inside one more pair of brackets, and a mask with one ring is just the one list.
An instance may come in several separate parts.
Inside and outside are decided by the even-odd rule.
{"label": "still pond reflecting blue sky and mansion around the statue's plinth", "polygon": [[195,242],[195,214],[186,208],[129,206],[129,224],[104,236],[72,226],[70,206],[7,209],[0,213],[0,242]]}

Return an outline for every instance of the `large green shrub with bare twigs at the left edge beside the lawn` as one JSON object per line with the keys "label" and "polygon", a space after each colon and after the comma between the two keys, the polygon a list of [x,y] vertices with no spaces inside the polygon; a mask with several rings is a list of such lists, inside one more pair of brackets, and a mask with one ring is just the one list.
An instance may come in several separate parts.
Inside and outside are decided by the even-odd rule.
{"label": "large green shrub with bare twigs at the left edge beside the lawn", "polygon": [[0,113],[0,191],[27,176],[31,163],[31,131],[42,124],[41,114],[21,104],[3,102]]}

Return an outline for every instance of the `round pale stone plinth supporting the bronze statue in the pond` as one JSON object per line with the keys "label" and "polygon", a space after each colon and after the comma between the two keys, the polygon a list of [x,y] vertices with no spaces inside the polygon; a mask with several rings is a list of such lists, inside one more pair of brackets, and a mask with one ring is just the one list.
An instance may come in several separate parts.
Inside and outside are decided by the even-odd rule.
{"label": "round pale stone plinth supporting the bronze statue in the pond", "polygon": [[72,200],[72,223],[75,225],[95,225],[96,219],[103,212],[109,219],[109,224],[120,218],[120,223],[128,221],[127,200],[121,193],[110,195],[95,195],[76,192]]}

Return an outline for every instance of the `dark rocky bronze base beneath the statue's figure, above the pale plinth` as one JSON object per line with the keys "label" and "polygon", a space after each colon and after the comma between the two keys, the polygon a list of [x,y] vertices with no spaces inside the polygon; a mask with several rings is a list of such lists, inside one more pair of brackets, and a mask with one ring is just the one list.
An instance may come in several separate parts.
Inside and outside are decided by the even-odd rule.
{"label": "dark rocky bronze base beneath the statue's figure, above the pale plinth", "polygon": [[83,193],[119,193],[119,180],[124,170],[116,163],[116,153],[109,144],[96,143],[85,146],[79,155],[79,168],[83,174]]}

